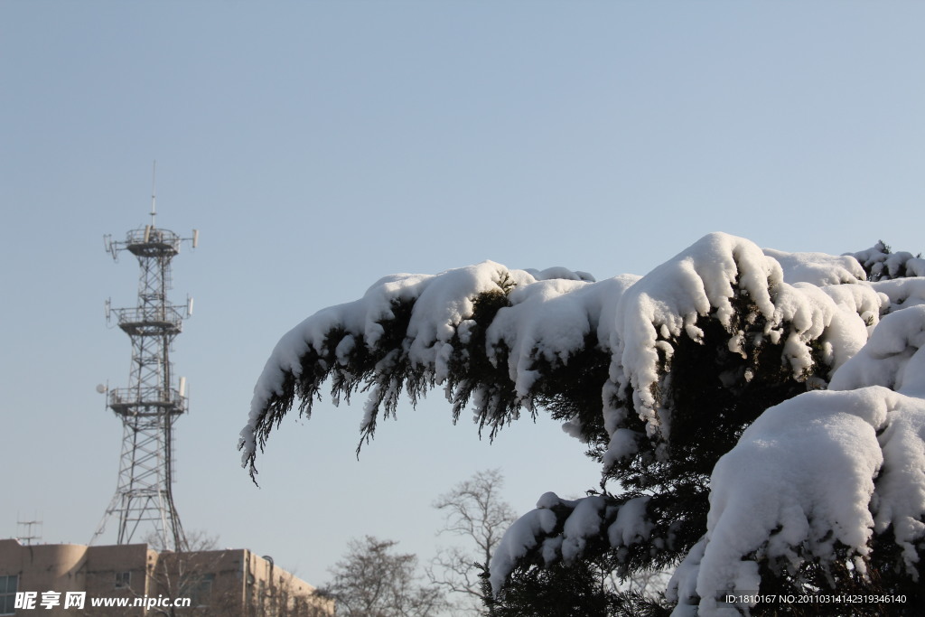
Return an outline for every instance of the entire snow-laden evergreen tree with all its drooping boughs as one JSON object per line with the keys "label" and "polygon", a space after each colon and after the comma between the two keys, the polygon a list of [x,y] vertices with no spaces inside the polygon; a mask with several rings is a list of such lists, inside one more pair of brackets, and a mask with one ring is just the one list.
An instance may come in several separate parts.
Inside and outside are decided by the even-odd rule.
{"label": "entire snow-laden evergreen tree with all its drooping boughs", "polygon": [[[253,473],[273,426],[296,398],[310,413],[327,380],[335,402],[369,391],[361,439],[402,391],[413,402],[442,386],[454,419],[470,405],[494,435],[548,410],[602,463],[603,492],[548,494],[512,525],[491,563],[496,591],[524,569],[583,559],[622,573],[682,561],[669,589],[679,614],[709,614],[720,590],[873,585],[866,573],[894,562],[912,580],[925,478],[890,462],[920,456],[925,420],[921,393],[893,389],[925,374],[909,360],[900,377],[877,350],[916,357],[915,327],[901,336],[886,326],[896,316],[881,319],[925,321],[904,310],[925,302],[922,283],[870,283],[854,256],[762,251],[722,233],[642,278],[491,262],[383,278],[280,340],[243,462]],[[858,364],[866,350],[879,372]],[[830,381],[846,391],[817,391]],[[881,490],[888,479],[905,500]]]}

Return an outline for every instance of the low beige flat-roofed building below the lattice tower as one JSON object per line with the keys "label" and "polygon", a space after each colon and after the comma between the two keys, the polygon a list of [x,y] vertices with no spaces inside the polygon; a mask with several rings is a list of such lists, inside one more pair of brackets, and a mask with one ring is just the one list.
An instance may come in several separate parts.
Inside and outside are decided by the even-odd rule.
{"label": "low beige flat-roofed building below the lattice tower", "polygon": [[88,547],[0,540],[0,615],[333,614],[332,599],[248,549],[158,553],[147,544]]}

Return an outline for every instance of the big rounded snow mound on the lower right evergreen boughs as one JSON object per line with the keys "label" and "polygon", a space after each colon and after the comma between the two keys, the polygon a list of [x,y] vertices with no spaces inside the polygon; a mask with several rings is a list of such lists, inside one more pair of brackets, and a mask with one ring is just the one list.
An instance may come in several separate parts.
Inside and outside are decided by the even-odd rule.
{"label": "big rounded snow mound on the lower right evergreen boughs", "polygon": [[[919,580],[923,343],[925,306],[886,315],[829,391],[785,401],[746,429],[716,464],[707,532],[675,574],[671,598],[709,613],[719,590],[758,589],[761,568],[799,572],[808,563],[831,588],[845,566],[870,580],[871,563]],[[873,554],[874,534],[887,532],[898,562]]]}

